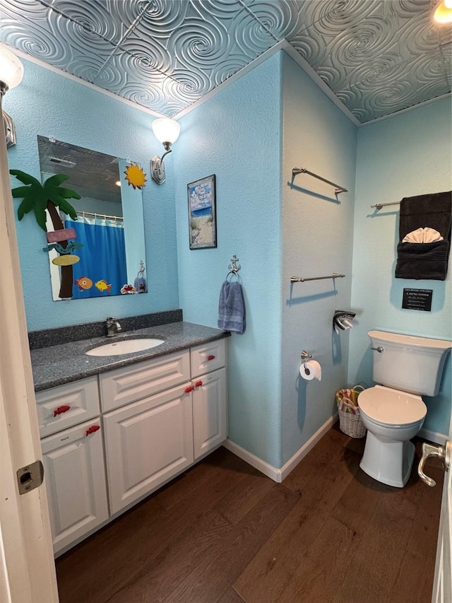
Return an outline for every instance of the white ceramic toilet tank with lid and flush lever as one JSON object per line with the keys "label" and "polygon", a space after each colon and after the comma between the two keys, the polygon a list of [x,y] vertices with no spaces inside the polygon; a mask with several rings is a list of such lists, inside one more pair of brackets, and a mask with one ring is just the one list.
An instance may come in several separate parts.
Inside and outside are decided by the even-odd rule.
{"label": "white ceramic toilet tank with lid and flush lever", "polygon": [[436,396],[452,341],[369,331],[374,381],[412,394]]}

